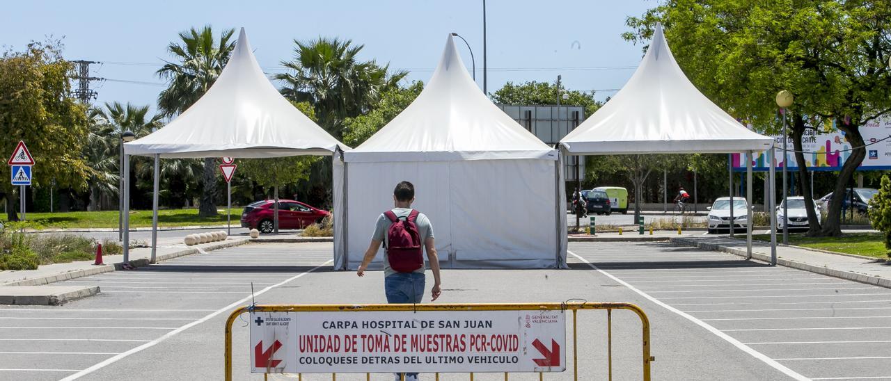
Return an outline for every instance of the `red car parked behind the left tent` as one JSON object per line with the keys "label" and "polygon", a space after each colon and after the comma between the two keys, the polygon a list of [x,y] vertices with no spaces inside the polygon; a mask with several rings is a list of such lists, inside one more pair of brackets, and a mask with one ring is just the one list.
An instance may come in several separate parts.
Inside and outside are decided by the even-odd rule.
{"label": "red car parked behind the left tent", "polygon": [[[241,212],[241,227],[264,233],[273,232],[274,205],[274,200],[267,199],[244,207]],[[303,229],[313,223],[321,223],[330,214],[299,201],[279,199],[279,229]]]}

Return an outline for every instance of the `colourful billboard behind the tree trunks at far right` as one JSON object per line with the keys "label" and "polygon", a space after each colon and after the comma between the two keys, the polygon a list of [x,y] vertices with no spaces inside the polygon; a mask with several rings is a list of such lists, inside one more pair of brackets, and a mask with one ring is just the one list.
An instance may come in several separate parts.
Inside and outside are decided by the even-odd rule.
{"label": "colourful billboard behind the tree trunks at far right", "polygon": [[[860,171],[877,171],[891,169],[891,116],[870,120],[860,127],[863,135],[863,141],[866,142],[866,158],[858,167]],[[797,170],[798,163],[793,152],[792,141],[788,142],[788,150],[786,158],[783,158],[782,136],[774,135],[776,142],[776,158],[774,165],[777,169],[782,168],[783,160],[788,161],[790,170]],[[845,164],[845,160],[851,156],[851,142],[847,141],[845,133],[835,128],[831,122],[827,122],[824,126],[819,126],[816,130],[808,128],[802,137],[802,148],[805,151],[805,166],[809,171],[838,171]],[[746,162],[743,161],[745,154],[732,154],[732,164],[734,171],[745,171]],[[756,154],[752,159],[753,169],[756,171],[767,171],[767,151]]]}

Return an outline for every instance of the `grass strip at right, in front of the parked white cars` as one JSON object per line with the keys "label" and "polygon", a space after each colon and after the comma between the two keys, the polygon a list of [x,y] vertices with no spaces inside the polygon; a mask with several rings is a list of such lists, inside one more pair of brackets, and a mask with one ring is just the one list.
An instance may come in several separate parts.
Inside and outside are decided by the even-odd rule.
{"label": "grass strip at right, in front of the parked white cars", "polygon": [[[770,242],[769,234],[758,234],[753,239]],[[778,240],[780,239],[778,234]],[[800,247],[818,248],[836,253],[855,254],[885,258],[888,250],[879,233],[845,234],[841,237],[805,237],[804,233],[789,234],[789,244]]]}

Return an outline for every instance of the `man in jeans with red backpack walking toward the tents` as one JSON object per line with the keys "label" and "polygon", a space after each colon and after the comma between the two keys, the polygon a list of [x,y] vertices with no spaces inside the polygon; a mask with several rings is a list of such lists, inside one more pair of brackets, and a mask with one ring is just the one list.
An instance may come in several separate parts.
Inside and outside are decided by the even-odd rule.
{"label": "man in jeans with red backpack walking toward the tents", "polygon": [[[372,234],[372,243],[365,251],[362,264],[356,274],[365,275],[368,264],[383,243],[384,292],[387,303],[421,303],[424,295],[424,259],[422,249],[427,250],[427,262],[433,272],[433,288],[430,301],[442,293],[439,281],[439,258],[433,239],[433,226],[426,215],[412,208],[414,185],[399,182],[393,190],[394,207],[378,217]],[[423,247],[421,247],[423,246]],[[396,374],[396,380],[400,375]],[[405,380],[417,380],[417,373],[406,373]]]}

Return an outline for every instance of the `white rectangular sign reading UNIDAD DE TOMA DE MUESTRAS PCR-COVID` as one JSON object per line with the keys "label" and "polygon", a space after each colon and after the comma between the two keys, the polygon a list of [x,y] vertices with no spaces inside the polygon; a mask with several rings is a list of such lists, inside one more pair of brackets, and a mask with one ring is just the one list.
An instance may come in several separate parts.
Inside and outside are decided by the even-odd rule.
{"label": "white rectangular sign reading UNIDAD DE TOMA DE MUESTRAS PCR-COVID", "polygon": [[251,312],[253,373],[561,372],[562,311]]}

